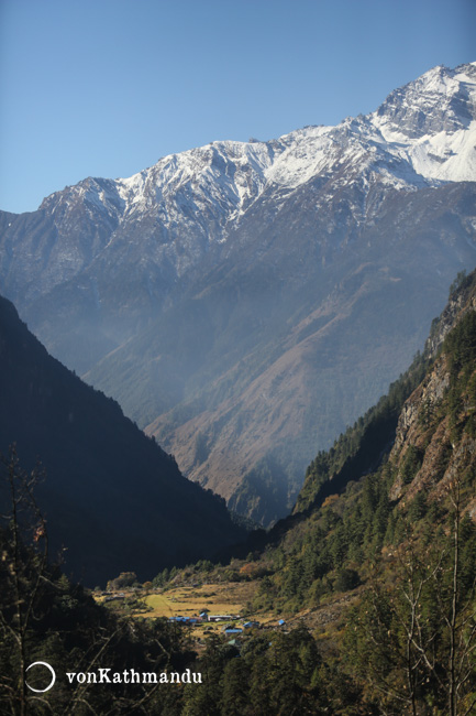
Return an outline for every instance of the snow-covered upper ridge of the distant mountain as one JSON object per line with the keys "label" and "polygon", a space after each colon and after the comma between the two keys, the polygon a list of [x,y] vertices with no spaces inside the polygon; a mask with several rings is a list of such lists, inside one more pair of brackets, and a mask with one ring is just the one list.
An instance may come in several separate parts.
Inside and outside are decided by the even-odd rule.
{"label": "snow-covered upper ridge of the distant mountain", "polygon": [[[119,221],[146,214],[170,238],[200,225],[222,241],[268,186],[285,194],[313,178],[350,183],[372,175],[396,188],[476,180],[476,63],[433,67],[380,107],[335,127],[309,126],[268,142],[217,141],[162,158],[129,178],[85,180],[46,198],[76,202]],[[62,208],[60,208],[62,207]],[[211,231],[207,227],[214,226]],[[152,226],[152,225],[151,225]],[[193,229],[195,230],[195,229]]]}

